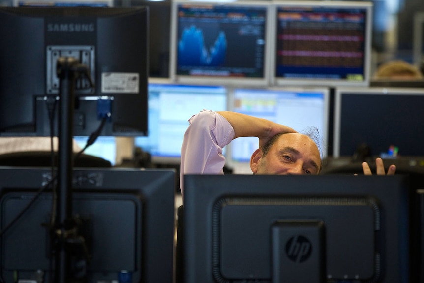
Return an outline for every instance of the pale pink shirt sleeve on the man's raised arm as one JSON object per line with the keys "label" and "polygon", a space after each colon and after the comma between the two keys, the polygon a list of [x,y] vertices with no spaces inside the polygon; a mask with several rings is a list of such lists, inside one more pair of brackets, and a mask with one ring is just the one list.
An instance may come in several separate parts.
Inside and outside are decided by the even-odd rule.
{"label": "pale pink shirt sleeve on the man's raised arm", "polygon": [[214,111],[202,110],[188,122],[181,147],[181,194],[184,174],[224,174],[222,148],[234,138],[231,124]]}

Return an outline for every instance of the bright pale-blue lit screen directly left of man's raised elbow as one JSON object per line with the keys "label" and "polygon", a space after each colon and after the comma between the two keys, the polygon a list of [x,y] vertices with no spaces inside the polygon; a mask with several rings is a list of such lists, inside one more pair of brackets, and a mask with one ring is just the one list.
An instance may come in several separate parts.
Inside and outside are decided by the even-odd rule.
{"label": "bright pale-blue lit screen directly left of man's raised elbow", "polygon": [[153,163],[180,164],[188,119],[203,109],[227,110],[227,88],[213,85],[149,81],[149,135],[134,145],[151,155]]}

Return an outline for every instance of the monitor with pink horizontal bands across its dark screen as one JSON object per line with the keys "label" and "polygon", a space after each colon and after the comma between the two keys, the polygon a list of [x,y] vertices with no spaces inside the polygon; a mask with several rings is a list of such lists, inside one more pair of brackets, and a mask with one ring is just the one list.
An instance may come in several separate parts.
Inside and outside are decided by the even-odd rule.
{"label": "monitor with pink horizontal bands across its dark screen", "polygon": [[372,4],[276,1],[273,85],[367,86]]}

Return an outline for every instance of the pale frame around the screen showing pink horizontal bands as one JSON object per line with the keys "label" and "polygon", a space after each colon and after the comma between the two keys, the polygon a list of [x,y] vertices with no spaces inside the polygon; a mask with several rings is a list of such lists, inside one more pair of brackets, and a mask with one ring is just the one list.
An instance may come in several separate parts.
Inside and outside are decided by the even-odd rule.
{"label": "pale frame around the screen showing pink horizontal bands", "polygon": [[[340,87],[340,86],[368,86],[370,77],[371,77],[371,45],[372,45],[372,8],[373,5],[371,2],[360,2],[360,1],[294,1],[294,0],[274,0],[273,7],[271,12],[272,19],[270,22],[273,22],[274,27],[273,31],[277,32],[277,9],[278,7],[311,7],[311,8],[361,8],[366,10],[366,23],[365,23],[365,50],[364,50],[364,77],[362,81],[349,81],[346,79],[290,79],[290,78],[280,78],[276,76],[276,36],[271,36],[271,85],[276,86],[285,86],[285,85],[316,85],[316,86],[328,86],[328,87]],[[274,34],[275,34],[274,33]]]}

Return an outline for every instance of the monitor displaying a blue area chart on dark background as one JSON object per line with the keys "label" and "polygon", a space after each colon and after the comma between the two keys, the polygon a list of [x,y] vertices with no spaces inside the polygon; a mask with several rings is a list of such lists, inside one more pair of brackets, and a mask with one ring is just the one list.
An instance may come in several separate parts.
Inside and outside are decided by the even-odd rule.
{"label": "monitor displaying a blue area chart on dark background", "polygon": [[266,1],[174,1],[171,78],[267,85],[269,8]]}

